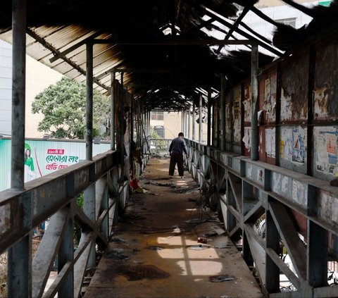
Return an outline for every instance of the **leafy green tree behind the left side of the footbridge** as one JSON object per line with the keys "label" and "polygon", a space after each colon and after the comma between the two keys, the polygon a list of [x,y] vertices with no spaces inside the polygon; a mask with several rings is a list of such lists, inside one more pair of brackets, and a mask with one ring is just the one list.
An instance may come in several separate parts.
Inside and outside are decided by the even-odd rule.
{"label": "leafy green tree behind the left side of the footbridge", "polygon": [[[110,104],[108,97],[93,92],[93,135],[100,135],[101,125],[108,128]],[[86,87],[63,77],[37,94],[32,103],[32,113],[42,113],[44,118],[37,127],[49,132],[51,137],[84,139],[86,127]],[[104,135],[103,135],[104,136]]]}

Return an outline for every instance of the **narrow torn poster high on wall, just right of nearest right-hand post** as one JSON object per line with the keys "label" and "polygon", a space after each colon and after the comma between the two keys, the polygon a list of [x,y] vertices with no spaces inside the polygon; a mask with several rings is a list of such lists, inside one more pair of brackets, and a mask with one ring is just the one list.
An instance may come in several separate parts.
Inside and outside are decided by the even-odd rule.
{"label": "narrow torn poster high on wall, just right of nearest right-hand post", "polygon": [[265,120],[276,120],[276,94],[277,94],[277,73],[274,73],[264,82],[264,105]]}

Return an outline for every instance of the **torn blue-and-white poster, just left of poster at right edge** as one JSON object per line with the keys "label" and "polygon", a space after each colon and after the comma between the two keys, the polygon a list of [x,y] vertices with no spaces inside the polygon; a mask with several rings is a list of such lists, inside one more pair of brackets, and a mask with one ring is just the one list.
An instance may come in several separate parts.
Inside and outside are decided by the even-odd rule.
{"label": "torn blue-and-white poster, just left of poster at right edge", "polygon": [[280,137],[280,156],[292,163],[306,161],[306,130],[301,126],[282,128]]}

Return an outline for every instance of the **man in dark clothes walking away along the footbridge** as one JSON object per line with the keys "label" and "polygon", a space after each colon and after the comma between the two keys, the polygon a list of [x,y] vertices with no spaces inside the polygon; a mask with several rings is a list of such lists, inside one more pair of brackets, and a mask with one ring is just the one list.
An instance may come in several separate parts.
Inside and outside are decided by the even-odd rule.
{"label": "man in dark clothes walking away along the footbridge", "polygon": [[169,153],[170,153],[170,165],[169,165],[169,176],[173,177],[175,171],[175,165],[177,163],[178,175],[183,178],[184,168],[183,168],[183,152],[188,156],[187,146],[184,142],[183,132],[178,134],[178,137],[175,137],[170,144]]}

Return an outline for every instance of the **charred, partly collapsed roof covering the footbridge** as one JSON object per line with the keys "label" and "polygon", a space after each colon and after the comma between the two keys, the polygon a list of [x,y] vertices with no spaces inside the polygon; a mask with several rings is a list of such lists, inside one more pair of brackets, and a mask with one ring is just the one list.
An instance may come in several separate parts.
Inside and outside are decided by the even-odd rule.
{"label": "charred, partly collapsed roof covering the footbridge", "polygon": [[[11,42],[11,1],[1,3],[0,38]],[[227,85],[250,74],[250,43],[258,43],[271,56],[260,54],[260,67],[284,51],[334,27],[338,6],[307,8],[284,2],[311,15],[313,21],[299,28],[276,23],[263,15],[256,1],[237,0],[27,0],[27,54],[68,77],[85,82],[86,44],[94,44],[96,89],[109,92],[111,71],[149,109],[186,108],[187,101],[220,90],[220,75]],[[238,5],[244,6],[242,13]],[[248,12],[275,26],[273,40],[251,30],[242,18]],[[337,27],[337,26],[336,26]],[[221,32],[235,42],[234,32],[246,41],[241,51],[227,49],[208,30]],[[238,36],[238,35],[237,35]],[[213,47],[211,47],[213,45]]]}

